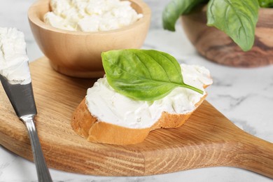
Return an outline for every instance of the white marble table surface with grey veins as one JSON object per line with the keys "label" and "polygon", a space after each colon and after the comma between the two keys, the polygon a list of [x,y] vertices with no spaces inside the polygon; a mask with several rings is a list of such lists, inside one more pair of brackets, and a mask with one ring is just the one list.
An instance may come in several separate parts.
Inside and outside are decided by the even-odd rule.
{"label": "white marble table surface with grey veins", "polygon": [[[0,0],[0,27],[18,27],[26,34],[27,52],[31,61],[43,56],[38,49],[27,22],[27,8],[33,0]],[[153,0],[147,0],[155,4]],[[10,6],[15,8],[9,8]],[[162,8],[162,5],[160,6]],[[179,62],[206,66],[214,78],[207,89],[207,100],[235,125],[248,133],[273,142],[273,66],[255,69],[238,69],[221,66],[197,55],[180,25],[175,33],[158,26],[158,11],[153,19],[143,48],[156,49],[176,57]],[[0,116],[1,117],[1,116]],[[54,181],[272,181],[267,177],[233,167],[211,167],[185,172],[139,177],[104,177],[71,174],[50,169]],[[0,146],[0,181],[37,181],[36,169],[29,162]]]}

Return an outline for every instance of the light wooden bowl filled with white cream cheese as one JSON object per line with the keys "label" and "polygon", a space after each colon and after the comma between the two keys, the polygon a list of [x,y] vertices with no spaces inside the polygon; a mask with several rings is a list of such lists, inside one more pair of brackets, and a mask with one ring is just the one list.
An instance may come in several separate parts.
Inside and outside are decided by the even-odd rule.
{"label": "light wooden bowl filled with white cream cheese", "polygon": [[36,43],[50,59],[53,69],[67,76],[99,78],[104,75],[101,53],[107,50],[141,48],[151,22],[151,10],[141,0],[130,0],[143,18],[133,25],[111,31],[66,31],[46,25],[43,15],[50,11],[49,0],[36,1],[28,11]]}

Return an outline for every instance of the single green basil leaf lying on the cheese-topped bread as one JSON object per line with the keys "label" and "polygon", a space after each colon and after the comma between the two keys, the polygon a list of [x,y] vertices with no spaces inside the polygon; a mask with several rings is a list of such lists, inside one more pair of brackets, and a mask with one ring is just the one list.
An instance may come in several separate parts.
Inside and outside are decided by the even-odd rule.
{"label": "single green basil leaf lying on the cheese-topped bread", "polygon": [[174,57],[157,50],[110,50],[102,52],[102,64],[109,85],[116,92],[137,100],[154,101],[165,97],[183,83],[181,66]]}

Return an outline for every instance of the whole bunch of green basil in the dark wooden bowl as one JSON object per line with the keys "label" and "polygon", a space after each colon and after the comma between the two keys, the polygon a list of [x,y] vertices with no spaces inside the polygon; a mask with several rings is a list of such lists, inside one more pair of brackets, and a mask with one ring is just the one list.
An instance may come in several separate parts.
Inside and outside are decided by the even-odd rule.
{"label": "whole bunch of green basil in the dark wooden bowl", "polygon": [[[190,13],[206,0],[172,0],[162,13],[163,27],[174,31],[180,15]],[[260,2],[260,5],[259,5]],[[254,43],[255,27],[260,6],[269,7],[272,0],[209,0],[207,5],[207,25],[224,31],[239,47],[250,50]]]}

